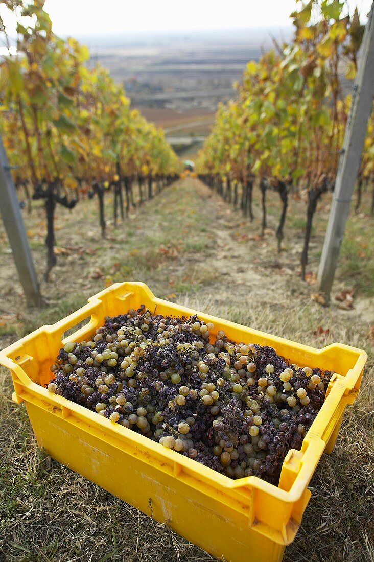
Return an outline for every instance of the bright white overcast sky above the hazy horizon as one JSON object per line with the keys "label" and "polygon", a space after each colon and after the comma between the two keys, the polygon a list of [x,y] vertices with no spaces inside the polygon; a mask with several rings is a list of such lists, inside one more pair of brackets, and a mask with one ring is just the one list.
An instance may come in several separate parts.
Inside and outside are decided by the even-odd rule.
{"label": "bright white overcast sky above the hazy horizon", "polygon": [[[235,29],[289,25],[295,0],[46,0],[59,35],[108,35],[131,31]],[[357,0],[360,12],[371,0]],[[355,2],[349,0],[349,6]]]}

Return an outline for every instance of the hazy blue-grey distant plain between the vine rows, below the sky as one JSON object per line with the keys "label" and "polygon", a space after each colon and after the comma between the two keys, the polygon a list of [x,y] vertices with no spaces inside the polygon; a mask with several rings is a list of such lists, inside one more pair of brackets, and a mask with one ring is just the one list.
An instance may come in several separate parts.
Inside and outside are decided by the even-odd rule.
{"label": "hazy blue-grey distant plain between the vine rows, below the sky", "polygon": [[[291,28],[263,28],[82,39],[92,53],[90,64],[109,69],[134,107],[168,127],[175,117],[184,123],[179,112],[186,120],[213,114],[217,103],[235,96],[232,84],[241,81],[246,63],[271,48],[272,37],[282,43],[290,33]],[[147,114],[145,108],[173,113]]]}

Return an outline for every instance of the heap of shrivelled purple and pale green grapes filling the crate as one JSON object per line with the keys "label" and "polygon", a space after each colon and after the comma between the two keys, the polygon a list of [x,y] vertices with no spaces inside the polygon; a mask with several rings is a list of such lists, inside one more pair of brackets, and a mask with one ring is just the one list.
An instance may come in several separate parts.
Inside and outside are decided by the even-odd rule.
{"label": "heap of shrivelled purple and pale green grapes filling the crate", "polygon": [[277,484],[331,373],[234,343],[223,330],[214,338],[213,329],[196,315],[130,309],[107,318],[92,341],[66,343],[48,390],[230,478]]}

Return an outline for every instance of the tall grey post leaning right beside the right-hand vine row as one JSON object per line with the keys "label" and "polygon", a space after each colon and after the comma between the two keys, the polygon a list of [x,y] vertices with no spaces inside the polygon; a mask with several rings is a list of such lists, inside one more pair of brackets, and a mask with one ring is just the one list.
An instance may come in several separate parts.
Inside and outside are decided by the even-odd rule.
{"label": "tall grey post leaning right beside the right-hand vine row", "polygon": [[318,291],[330,300],[341,241],[343,240],[354,183],[361,161],[367,121],[374,95],[374,2],[365,27],[361,57],[354,84],[350,115],[345,129],[343,150],[339,158],[330,216],[318,269]]}

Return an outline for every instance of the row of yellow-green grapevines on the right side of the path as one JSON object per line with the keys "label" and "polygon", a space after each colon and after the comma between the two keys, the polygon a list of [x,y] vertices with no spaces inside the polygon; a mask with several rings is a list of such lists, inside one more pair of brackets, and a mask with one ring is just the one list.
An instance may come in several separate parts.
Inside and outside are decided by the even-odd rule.
{"label": "row of yellow-green grapevines on the right side of the path", "polygon": [[[345,65],[346,78],[354,78],[363,36],[357,9],[351,16],[347,13],[347,4],[338,0],[310,0],[293,12],[292,42],[276,44],[258,62],[247,64],[237,99],[219,106],[197,161],[200,178],[225,201],[234,206],[240,201],[250,220],[253,186],[258,186],[262,235],[267,228],[267,191],[279,194],[278,251],[290,194],[305,200],[303,278],[313,217],[323,194],[334,189],[348,118],[350,96],[343,96],[340,67]],[[362,158],[365,178],[372,176],[374,161],[372,119]],[[361,189],[360,178],[358,185]]]}

